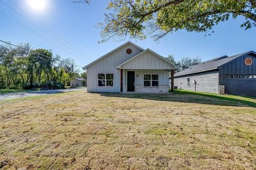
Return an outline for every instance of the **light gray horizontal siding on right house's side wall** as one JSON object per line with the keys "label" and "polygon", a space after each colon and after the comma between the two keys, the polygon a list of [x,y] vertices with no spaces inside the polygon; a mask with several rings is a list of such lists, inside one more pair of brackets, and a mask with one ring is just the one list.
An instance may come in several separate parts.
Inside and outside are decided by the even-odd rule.
{"label": "light gray horizontal siding on right house's side wall", "polygon": [[[190,86],[188,86],[187,83],[187,78],[189,77]],[[195,84],[193,83],[194,80],[196,80],[196,91],[213,92],[215,94],[218,94],[219,71],[209,71],[177,77],[174,78],[174,86],[177,86],[178,89],[195,91]]]}

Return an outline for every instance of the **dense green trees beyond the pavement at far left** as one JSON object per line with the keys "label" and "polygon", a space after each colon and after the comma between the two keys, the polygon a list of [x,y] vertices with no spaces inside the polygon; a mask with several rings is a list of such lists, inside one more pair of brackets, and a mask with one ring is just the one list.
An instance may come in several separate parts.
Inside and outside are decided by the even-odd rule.
{"label": "dense green trees beyond the pavement at far left", "polygon": [[59,89],[79,77],[67,64],[74,60],[64,59],[60,69],[60,56],[51,50],[32,49],[28,43],[19,46],[0,45],[0,89]]}

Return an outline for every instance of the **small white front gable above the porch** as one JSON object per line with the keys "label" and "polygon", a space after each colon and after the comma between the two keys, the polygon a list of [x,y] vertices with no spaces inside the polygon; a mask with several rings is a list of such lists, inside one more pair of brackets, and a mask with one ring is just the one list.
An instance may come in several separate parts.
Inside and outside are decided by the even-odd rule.
{"label": "small white front gable above the porch", "polygon": [[151,49],[146,49],[140,54],[130,58],[130,60],[118,65],[117,69],[166,69],[172,70],[178,67],[167,61],[161,55],[153,52]]}

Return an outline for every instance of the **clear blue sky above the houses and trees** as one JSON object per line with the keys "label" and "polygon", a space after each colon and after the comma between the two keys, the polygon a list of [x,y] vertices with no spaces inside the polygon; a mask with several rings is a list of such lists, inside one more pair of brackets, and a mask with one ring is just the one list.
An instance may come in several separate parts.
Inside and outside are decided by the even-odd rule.
{"label": "clear blue sky above the houses and trees", "polygon": [[[79,66],[89,64],[130,40],[110,39],[106,43],[98,43],[101,40],[100,29],[95,26],[104,22],[104,14],[108,13],[106,0],[92,0],[89,5],[74,4],[72,0],[45,0],[43,8],[31,5],[31,0],[10,1],[0,2],[0,40],[12,44],[31,43],[34,48],[51,49],[54,55],[73,58]],[[213,27],[211,36],[179,30],[158,42],[150,37],[130,41],[162,56],[172,54],[176,61],[182,57],[196,56],[207,61],[218,56],[256,51],[256,28],[244,30],[240,27],[243,22],[242,16],[221,22]]]}

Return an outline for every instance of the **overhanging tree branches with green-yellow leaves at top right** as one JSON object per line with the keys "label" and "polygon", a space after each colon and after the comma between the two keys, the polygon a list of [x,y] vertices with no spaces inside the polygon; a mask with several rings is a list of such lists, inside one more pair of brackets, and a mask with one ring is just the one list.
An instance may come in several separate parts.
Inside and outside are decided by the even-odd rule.
{"label": "overhanging tree branches with green-yellow leaves at top right", "polygon": [[[87,2],[88,3],[88,2]],[[99,23],[101,41],[126,36],[155,40],[180,29],[207,32],[213,25],[243,16],[241,27],[256,27],[256,0],[110,0],[110,13]]]}

